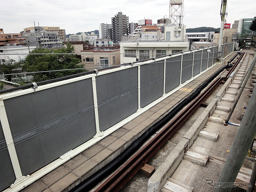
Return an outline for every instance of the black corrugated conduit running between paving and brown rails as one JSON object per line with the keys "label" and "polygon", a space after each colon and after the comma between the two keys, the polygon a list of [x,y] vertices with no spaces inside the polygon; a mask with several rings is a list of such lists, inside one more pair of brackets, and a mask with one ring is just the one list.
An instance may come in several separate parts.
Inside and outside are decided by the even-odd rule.
{"label": "black corrugated conduit running between paving and brown rails", "polygon": [[212,81],[214,78],[220,74],[224,69],[231,68],[232,65],[223,66],[217,72],[215,72],[210,78],[208,78],[201,86],[199,86],[194,93],[192,93],[188,98],[182,101],[176,108],[174,108],[170,113],[168,113],[162,120],[158,121],[152,127],[150,127],[144,134],[142,134],[136,141],[134,141],[124,152],[122,152],[118,157],[104,166],[102,169],[95,172],[92,176],[88,177],[86,180],[78,184],[71,192],[84,192],[92,189],[98,182],[108,176],[116,168],[121,166],[150,136],[152,136],[158,129],[164,126],[171,118],[173,118],[184,106],[195,99],[200,92]]}

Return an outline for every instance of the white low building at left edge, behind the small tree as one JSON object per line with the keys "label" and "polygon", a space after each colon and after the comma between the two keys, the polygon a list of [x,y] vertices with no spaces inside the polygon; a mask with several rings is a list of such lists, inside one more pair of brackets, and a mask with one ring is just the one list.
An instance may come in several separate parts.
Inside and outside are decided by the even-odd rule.
{"label": "white low building at left edge, behind the small tree", "polygon": [[[29,52],[35,48],[36,46],[2,46],[0,47],[0,53],[2,53],[0,54],[0,64],[3,64],[10,59],[15,60],[16,62],[24,62]],[[12,54],[8,55],[9,53]]]}

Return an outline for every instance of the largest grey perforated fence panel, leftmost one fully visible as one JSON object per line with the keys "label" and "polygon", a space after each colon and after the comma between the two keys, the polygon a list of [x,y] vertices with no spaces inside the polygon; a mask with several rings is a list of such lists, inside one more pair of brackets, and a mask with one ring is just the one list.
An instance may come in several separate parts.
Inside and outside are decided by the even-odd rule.
{"label": "largest grey perforated fence panel, leftmost one fully visible", "polygon": [[91,79],[10,98],[4,105],[23,175],[96,134]]}

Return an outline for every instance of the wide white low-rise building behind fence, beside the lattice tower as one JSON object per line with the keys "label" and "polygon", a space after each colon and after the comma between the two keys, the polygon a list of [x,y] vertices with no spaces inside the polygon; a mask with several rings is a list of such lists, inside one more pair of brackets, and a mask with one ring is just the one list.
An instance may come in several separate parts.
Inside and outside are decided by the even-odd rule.
{"label": "wide white low-rise building behind fence, beside the lattice tower", "polygon": [[140,30],[134,31],[134,36],[123,36],[120,44],[121,64],[188,50],[186,26],[164,28],[162,34],[157,26],[142,25]]}

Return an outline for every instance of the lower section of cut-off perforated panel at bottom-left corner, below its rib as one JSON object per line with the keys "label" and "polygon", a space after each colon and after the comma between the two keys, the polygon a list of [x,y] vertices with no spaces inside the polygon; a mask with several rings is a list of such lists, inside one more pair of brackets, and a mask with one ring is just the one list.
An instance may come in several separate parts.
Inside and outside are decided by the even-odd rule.
{"label": "lower section of cut-off perforated panel at bottom-left corner, below its rib", "polygon": [[6,147],[0,150],[0,191],[8,188],[15,179],[12,162]]}

